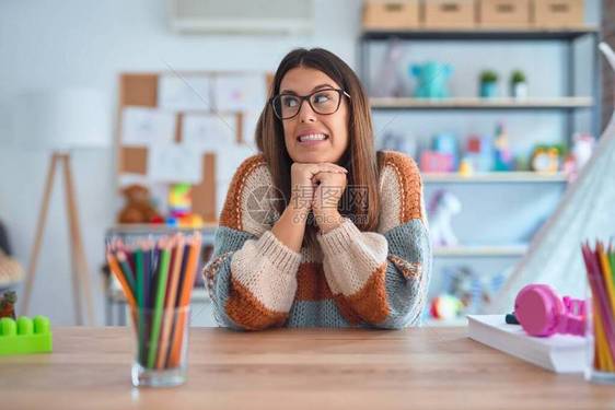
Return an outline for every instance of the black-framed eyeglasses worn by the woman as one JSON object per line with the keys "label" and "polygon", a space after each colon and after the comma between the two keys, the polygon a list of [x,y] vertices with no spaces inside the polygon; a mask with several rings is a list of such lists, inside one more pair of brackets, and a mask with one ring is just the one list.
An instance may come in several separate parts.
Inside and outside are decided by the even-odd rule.
{"label": "black-framed eyeglasses worn by the woman", "polygon": [[274,113],[279,119],[290,119],[299,114],[306,99],[314,113],[330,115],[339,109],[341,96],[350,95],[340,89],[322,89],[309,95],[278,94],[270,99]]}

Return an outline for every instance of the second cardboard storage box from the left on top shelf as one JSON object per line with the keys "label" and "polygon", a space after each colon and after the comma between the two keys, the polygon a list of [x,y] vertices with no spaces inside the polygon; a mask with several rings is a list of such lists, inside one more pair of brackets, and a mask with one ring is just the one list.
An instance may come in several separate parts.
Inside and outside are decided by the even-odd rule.
{"label": "second cardboard storage box from the left on top shelf", "polygon": [[474,28],[476,5],[474,0],[425,0],[426,28]]}

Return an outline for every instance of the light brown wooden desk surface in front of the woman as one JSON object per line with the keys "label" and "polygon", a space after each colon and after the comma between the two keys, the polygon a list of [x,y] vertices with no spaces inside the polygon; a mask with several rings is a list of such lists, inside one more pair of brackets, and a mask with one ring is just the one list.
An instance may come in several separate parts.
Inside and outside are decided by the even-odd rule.
{"label": "light brown wooden desk surface in front of the woman", "polygon": [[169,389],[135,389],[129,328],[56,328],[54,353],[0,358],[0,407],[615,407],[615,386],[526,364],[467,339],[465,328],[190,331],[188,382]]}

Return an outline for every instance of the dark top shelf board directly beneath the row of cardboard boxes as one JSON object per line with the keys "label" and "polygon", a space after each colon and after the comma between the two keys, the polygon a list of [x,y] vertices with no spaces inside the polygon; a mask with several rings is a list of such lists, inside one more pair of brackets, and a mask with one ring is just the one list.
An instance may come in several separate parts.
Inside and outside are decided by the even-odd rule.
{"label": "dark top shelf board directly beneath the row of cardboard boxes", "polygon": [[446,39],[446,40],[572,40],[588,34],[597,35],[600,28],[582,25],[569,28],[502,28],[502,30],[405,30],[363,31],[362,40],[398,39]]}

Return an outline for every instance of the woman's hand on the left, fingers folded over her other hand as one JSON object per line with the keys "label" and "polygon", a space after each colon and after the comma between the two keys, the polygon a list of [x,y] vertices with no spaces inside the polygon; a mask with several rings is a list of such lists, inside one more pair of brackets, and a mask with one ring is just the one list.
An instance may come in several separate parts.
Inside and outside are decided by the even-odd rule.
{"label": "woman's hand on the left, fingers folded over her other hand", "polygon": [[318,173],[348,173],[348,171],[333,163],[299,163],[295,162],[290,167],[291,201],[290,204],[304,210],[312,208],[312,199],[316,183],[314,176]]}

